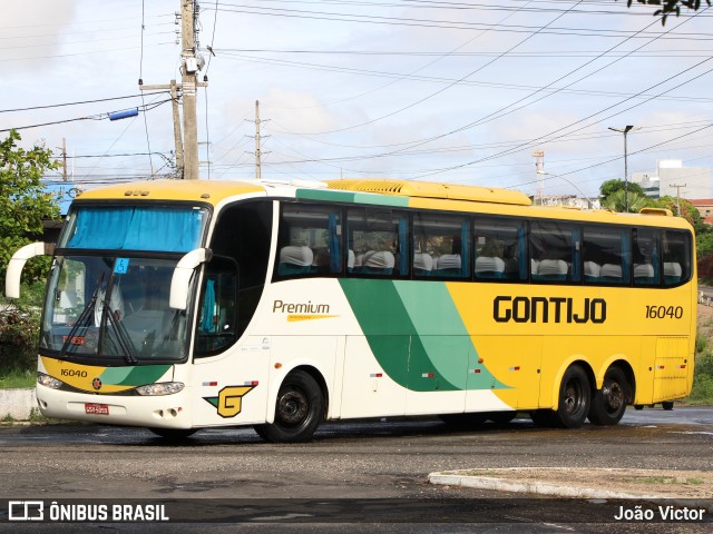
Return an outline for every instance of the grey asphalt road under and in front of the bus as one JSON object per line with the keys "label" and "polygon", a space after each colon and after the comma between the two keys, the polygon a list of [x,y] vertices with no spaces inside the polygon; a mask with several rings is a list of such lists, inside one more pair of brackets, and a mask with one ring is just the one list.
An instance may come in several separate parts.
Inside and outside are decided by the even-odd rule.
{"label": "grey asphalt road under and in front of the bus", "polygon": [[[225,524],[251,532],[373,532],[375,524],[385,532],[668,533],[712,526],[622,524],[612,520],[621,503],[522,498],[431,485],[427,478],[470,467],[711,471],[712,408],[629,409],[618,426],[580,429],[540,429],[529,419],[469,432],[437,419],[332,423],[311,443],[282,445],[264,443],[247,428],[206,429],[167,443],[139,428],[13,426],[0,428],[0,500],[168,502],[174,521],[224,522],[202,524],[201,532],[223,532]],[[0,512],[0,531],[64,532],[58,524],[6,520]],[[64,526],[82,532],[71,530],[77,524]],[[121,532],[148,526],[111,523]]]}

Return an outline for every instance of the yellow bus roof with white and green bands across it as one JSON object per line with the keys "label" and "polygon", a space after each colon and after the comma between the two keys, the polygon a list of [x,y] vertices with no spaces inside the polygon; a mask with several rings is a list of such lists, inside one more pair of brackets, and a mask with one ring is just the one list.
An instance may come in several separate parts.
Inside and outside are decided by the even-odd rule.
{"label": "yellow bus roof with white and green bands across it", "polygon": [[534,218],[555,218],[609,224],[635,224],[687,228],[681,217],[670,210],[645,208],[641,215],[616,214],[603,209],[567,209],[565,207],[533,206],[529,197],[519,191],[427,181],[392,179],[335,179],[326,181],[207,181],[147,180],[124,182],[89,189],[75,201],[86,200],[169,200],[193,201],[217,206],[243,195],[300,198],[391,207],[482,212]]}

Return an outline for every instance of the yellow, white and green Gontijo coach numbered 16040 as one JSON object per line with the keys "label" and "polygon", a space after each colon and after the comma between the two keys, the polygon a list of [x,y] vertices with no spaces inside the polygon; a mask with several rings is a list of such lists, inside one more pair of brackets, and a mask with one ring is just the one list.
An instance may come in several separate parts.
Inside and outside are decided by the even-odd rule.
{"label": "yellow, white and green Gontijo coach numbered 16040", "polygon": [[37,398],[162,436],[325,419],[614,425],[685,397],[696,330],[682,218],[531,206],[403,180],[157,180],[75,199],[52,254]]}

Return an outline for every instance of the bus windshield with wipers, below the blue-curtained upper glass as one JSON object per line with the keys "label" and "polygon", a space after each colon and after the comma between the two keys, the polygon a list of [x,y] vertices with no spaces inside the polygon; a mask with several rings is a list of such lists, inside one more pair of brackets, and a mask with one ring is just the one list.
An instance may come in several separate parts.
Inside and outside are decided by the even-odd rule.
{"label": "bus windshield with wipers, below the blue-curtained upper glass", "polygon": [[186,317],[168,306],[176,264],[129,255],[57,256],[40,350],[94,363],[183,359]]}

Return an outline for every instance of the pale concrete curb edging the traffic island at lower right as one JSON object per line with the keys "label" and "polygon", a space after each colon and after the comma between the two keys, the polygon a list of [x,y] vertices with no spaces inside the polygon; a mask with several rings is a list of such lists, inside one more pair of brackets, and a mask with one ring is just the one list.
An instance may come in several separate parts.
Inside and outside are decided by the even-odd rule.
{"label": "pale concrete curb edging the traffic island at lower right", "polygon": [[[467,471],[467,469],[466,469]],[[472,487],[478,490],[491,490],[497,492],[531,493],[537,495],[551,495],[559,497],[578,497],[596,500],[626,500],[626,501],[681,501],[690,505],[700,503],[702,506],[712,507],[711,500],[675,498],[671,495],[655,495],[633,492],[617,492],[595,487],[577,487],[546,482],[522,482],[510,478],[492,476],[465,475],[459,472],[431,473],[428,475],[431,484],[445,484],[449,486]]]}

